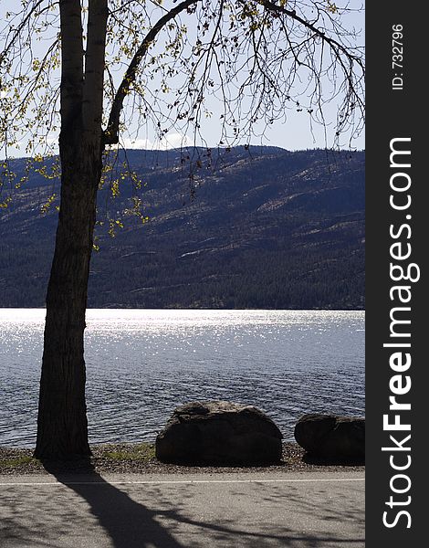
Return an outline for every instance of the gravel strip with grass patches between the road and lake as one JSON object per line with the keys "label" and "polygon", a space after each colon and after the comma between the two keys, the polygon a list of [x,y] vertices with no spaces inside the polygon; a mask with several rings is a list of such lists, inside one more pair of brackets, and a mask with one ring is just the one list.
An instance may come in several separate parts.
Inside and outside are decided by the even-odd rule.
{"label": "gravel strip with grass patches between the road and lake", "polygon": [[[309,458],[303,448],[293,442],[283,444],[282,459],[279,463],[266,467],[208,467],[178,466],[164,464],[155,458],[154,444],[120,443],[92,446],[92,457],[88,460],[73,460],[61,463],[48,463],[50,471],[58,472],[97,472],[138,473],[138,474],[194,474],[225,472],[297,472],[297,471],[363,471],[362,463],[327,462]],[[0,447],[0,475],[48,474],[44,465],[32,457],[32,449]]]}

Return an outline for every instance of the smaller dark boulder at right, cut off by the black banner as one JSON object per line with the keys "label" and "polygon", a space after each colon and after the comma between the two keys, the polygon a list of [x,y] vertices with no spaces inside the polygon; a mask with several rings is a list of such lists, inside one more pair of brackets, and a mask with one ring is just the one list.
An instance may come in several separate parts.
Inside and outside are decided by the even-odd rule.
{"label": "smaller dark boulder at right, cut off by the black banner", "polygon": [[304,415],[295,439],[312,457],[361,462],[365,458],[365,419],[336,415]]}

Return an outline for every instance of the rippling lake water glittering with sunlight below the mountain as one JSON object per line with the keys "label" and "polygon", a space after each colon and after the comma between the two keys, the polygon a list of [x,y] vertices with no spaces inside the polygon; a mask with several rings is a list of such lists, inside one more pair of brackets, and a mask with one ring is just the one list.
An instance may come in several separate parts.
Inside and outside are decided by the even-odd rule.
{"label": "rippling lake water glittering with sunlight below the mountain", "polygon": [[[0,445],[33,447],[45,311],[0,309]],[[153,440],[173,408],[364,414],[362,311],[89,310],[90,443]]]}

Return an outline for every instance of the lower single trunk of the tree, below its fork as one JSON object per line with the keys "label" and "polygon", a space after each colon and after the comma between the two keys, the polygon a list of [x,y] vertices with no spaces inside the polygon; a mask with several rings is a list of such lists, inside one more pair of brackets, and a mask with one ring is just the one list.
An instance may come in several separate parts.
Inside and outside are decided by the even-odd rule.
{"label": "lower single trunk of the tree, below its fork", "polygon": [[[61,142],[62,141],[62,142]],[[61,205],[47,287],[37,458],[89,456],[83,340],[100,149],[60,140]]]}

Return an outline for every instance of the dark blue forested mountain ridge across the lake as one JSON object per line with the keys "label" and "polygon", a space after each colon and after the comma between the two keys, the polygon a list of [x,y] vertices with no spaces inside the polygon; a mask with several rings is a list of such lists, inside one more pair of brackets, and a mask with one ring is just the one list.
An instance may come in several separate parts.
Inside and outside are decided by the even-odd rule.
{"label": "dark blue forested mountain ridge across the lake", "polygon": [[[112,199],[108,174],[99,192],[89,307],[363,308],[364,153],[130,150],[120,180],[125,164],[143,185],[124,181]],[[16,181],[24,169],[14,162]],[[44,305],[58,189],[32,173],[3,190],[0,201],[12,201],[0,209],[0,307]],[[115,237],[109,218],[123,224]]]}

